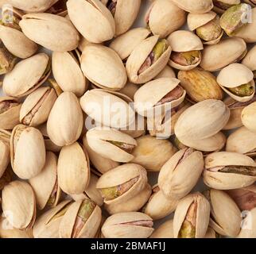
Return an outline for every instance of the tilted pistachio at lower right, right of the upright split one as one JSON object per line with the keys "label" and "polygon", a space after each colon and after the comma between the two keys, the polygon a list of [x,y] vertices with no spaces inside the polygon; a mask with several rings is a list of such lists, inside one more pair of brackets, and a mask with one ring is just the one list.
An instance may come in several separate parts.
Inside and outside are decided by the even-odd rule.
{"label": "tilted pistachio at lower right, right of the upright split one", "polygon": [[234,200],[224,191],[214,189],[206,191],[205,196],[211,203],[211,228],[222,236],[237,237],[242,217]]}

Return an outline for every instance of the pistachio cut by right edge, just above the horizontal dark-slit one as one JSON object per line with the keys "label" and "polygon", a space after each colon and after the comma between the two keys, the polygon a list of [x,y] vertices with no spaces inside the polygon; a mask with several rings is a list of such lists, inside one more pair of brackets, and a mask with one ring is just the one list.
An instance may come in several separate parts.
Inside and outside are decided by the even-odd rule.
{"label": "pistachio cut by right edge, just above the horizontal dark-slit one", "polygon": [[242,126],[227,138],[227,152],[239,152],[246,156],[256,155],[256,133]]}

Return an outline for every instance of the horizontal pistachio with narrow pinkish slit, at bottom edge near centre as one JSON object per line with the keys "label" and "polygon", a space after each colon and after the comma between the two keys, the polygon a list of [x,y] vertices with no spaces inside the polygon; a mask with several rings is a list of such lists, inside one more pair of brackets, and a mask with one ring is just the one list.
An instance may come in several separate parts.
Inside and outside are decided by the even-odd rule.
{"label": "horizontal pistachio with narrow pinkish slit, at bottom edge near centre", "polygon": [[153,220],[138,212],[113,214],[103,224],[102,233],[106,238],[147,238],[153,233]]}

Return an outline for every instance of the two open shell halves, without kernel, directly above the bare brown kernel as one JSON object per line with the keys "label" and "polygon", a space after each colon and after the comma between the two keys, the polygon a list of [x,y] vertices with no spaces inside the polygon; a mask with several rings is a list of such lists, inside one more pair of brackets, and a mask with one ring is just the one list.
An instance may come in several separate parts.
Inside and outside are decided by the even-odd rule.
{"label": "two open shell halves, without kernel, directly above the bare brown kernel", "polygon": [[[201,51],[204,49],[203,43],[200,37],[197,37],[195,33],[178,30],[169,35],[167,38],[173,52],[190,52],[190,51]],[[173,53],[172,52],[172,53]],[[172,55],[171,55],[172,58]],[[184,66],[181,64],[176,64],[173,60],[169,59],[169,65],[178,70],[188,71],[192,70],[194,67],[198,66],[201,62],[201,53],[199,55],[199,60],[196,64]]]}

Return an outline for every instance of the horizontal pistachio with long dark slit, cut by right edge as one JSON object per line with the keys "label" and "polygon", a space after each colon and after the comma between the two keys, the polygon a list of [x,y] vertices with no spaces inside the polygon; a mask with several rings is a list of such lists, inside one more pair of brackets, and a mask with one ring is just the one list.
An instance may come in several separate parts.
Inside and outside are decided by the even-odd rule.
{"label": "horizontal pistachio with long dark slit, cut by right edge", "polygon": [[256,164],[236,152],[214,152],[204,160],[204,183],[217,190],[250,186],[256,180]]}

